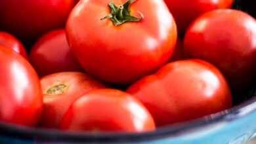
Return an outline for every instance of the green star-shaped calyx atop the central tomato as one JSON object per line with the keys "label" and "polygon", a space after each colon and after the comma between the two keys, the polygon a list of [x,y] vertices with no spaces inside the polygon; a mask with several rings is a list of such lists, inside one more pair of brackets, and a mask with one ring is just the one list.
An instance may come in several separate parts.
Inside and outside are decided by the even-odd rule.
{"label": "green star-shaped calyx atop the central tomato", "polygon": [[111,13],[100,20],[110,19],[115,26],[124,24],[125,22],[140,22],[143,16],[140,14],[140,18],[131,15],[130,6],[137,0],[128,0],[125,4],[116,6],[114,3],[110,2],[108,7],[110,7]]}

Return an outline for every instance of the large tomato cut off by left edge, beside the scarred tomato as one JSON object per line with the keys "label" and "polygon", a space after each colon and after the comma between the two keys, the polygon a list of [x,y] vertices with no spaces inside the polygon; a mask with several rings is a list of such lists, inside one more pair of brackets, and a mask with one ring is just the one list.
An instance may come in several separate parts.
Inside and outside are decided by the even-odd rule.
{"label": "large tomato cut off by left edge, beside the scarred tomato", "polygon": [[33,67],[20,54],[0,46],[0,121],[34,126],[43,96]]}

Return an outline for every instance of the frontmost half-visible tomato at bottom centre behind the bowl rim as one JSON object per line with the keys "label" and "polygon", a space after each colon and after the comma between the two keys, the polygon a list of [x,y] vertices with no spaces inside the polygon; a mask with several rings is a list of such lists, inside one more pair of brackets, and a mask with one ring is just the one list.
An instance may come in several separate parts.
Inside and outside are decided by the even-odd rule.
{"label": "frontmost half-visible tomato at bottom centre behind the bowl rim", "polygon": [[119,90],[101,89],[77,99],[64,115],[61,128],[91,132],[146,132],[155,130],[155,124],[137,99]]}

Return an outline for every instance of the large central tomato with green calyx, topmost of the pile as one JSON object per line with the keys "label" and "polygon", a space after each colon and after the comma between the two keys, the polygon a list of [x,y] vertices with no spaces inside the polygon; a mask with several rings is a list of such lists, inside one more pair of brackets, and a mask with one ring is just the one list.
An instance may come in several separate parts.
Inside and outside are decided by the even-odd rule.
{"label": "large central tomato with green calyx, topmost of the pile", "polygon": [[[122,5],[112,10],[116,15],[110,16],[109,3],[112,9]],[[177,41],[173,17],[158,0],[80,1],[66,31],[85,71],[114,84],[129,84],[158,69]]]}

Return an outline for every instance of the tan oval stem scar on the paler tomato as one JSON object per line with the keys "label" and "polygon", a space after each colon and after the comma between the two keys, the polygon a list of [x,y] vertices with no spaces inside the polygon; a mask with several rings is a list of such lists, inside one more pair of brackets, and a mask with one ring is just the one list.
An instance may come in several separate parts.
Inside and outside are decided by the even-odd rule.
{"label": "tan oval stem scar on the paler tomato", "polygon": [[49,86],[43,94],[54,96],[64,94],[66,90],[68,90],[68,84],[56,82],[52,86]]}

